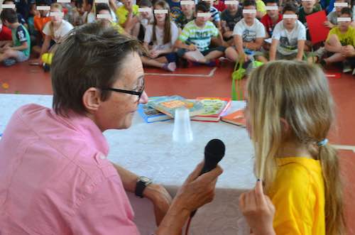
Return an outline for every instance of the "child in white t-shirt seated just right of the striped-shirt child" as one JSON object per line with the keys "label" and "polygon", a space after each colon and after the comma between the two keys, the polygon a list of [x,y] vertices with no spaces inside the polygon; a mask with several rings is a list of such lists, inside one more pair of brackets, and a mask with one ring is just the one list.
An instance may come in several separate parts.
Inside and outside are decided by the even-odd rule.
{"label": "child in white t-shirt seated just right of the striped-shirt child", "polygon": [[234,26],[234,46],[226,49],[226,57],[232,61],[244,58],[244,62],[247,62],[256,58],[258,61],[266,62],[261,53],[266,31],[263,24],[256,18],[256,2],[245,0],[243,11],[244,18]]}

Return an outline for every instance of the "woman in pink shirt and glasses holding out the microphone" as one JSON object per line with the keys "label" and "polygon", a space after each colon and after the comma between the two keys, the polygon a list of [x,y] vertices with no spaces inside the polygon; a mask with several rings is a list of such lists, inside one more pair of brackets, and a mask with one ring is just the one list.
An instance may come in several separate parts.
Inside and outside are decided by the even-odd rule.
{"label": "woman in pink shirt and glasses holding out the microphone", "polygon": [[139,53],[136,40],[99,23],[60,43],[53,109],[21,107],[0,141],[0,234],[138,234],[126,190],[153,202],[155,234],[174,235],[212,201],[219,167],[198,176],[198,165],[171,202],[163,187],[107,159],[102,132],[129,128],[147,102]]}

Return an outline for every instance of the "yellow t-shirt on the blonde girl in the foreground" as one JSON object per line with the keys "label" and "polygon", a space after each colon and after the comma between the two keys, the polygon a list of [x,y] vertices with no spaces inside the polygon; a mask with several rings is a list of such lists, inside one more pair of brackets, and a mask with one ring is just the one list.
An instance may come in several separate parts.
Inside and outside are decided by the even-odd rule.
{"label": "yellow t-shirt on the blonde girl in the foreground", "polygon": [[278,158],[278,171],[268,195],[276,209],[276,234],[325,235],[324,182],[319,160]]}

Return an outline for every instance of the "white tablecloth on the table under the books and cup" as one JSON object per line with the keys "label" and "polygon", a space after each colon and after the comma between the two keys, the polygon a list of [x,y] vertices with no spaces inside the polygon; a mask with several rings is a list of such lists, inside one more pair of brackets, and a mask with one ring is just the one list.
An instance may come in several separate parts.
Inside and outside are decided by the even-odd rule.
{"label": "white tablecloth on the table under the books and cup", "polygon": [[[0,133],[13,111],[29,103],[50,107],[52,96],[0,94]],[[243,102],[234,102],[232,108],[242,106]],[[133,173],[152,177],[175,195],[187,175],[204,158],[207,142],[212,138],[221,139],[226,145],[226,155],[220,163],[224,173],[217,182],[214,201],[199,209],[192,220],[190,235],[249,234],[238,207],[241,192],[251,189],[256,182],[253,148],[246,130],[223,122],[192,121],[191,126],[194,141],[181,146],[172,141],[173,120],[146,124],[136,114],[130,129],[104,132],[110,146],[109,159]],[[129,199],[141,234],[151,234],[155,228],[152,204],[130,193]]]}

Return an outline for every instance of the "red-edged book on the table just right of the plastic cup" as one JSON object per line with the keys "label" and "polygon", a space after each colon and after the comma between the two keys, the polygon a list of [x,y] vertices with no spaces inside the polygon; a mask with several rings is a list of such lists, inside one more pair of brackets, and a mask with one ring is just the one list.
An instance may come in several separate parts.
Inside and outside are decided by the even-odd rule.
{"label": "red-edged book on the table just right of the plastic cup", "polygon": [[217,122],[231,106],[231,98],[223,97],[197,97],[197,101],[203,104],[204,111],[202,114],[193,116],[193,121],[214,121]]}

